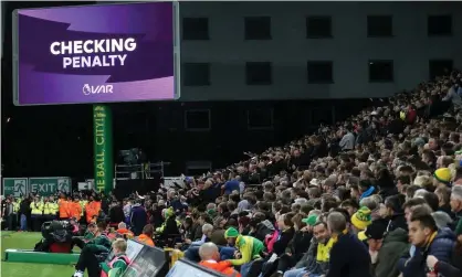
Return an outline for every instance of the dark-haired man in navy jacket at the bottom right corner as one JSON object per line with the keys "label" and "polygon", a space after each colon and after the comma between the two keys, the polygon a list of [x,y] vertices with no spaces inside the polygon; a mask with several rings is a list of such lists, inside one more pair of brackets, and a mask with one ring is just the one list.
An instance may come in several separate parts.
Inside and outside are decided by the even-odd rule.
{"label": "dark-haired man in navy jacket at the bottom right corner", "polygon": [[[450,263],[455,236],[450,230],[438,230],[433,217],[424,207],[416,207],[409,219],[409,238],[416,246],[412,257],[405,255],[398,262],[398,269],[403,277],[426,277],[433,273],[426,267],[426,256],[434,256],[438,260]],[[434,269],[434,268],[433,268]]]}

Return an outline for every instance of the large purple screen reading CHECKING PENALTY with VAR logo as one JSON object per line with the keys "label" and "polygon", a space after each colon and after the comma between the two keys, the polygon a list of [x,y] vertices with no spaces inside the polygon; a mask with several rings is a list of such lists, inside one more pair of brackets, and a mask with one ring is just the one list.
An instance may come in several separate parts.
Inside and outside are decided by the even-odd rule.
{"label": "large purple screen reading CHECKING PENALTY with VAR logo", "polygon": [[15,10],[15,105],[179,97],[174,2]]}

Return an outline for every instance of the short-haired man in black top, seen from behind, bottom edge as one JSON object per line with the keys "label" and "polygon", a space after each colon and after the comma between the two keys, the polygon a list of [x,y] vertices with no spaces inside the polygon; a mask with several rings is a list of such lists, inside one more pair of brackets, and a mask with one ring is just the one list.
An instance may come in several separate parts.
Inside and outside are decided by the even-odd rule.
{"label": "short-haired man in black top, seen from behind, bottom edge", "polygon": [[[327,226],[334,239],[326,277],[370,277],[370,255],[356,235],[348,234],[346,217],[339,212],[327,216]],[[355,255],[345,255],[354,253]]]}

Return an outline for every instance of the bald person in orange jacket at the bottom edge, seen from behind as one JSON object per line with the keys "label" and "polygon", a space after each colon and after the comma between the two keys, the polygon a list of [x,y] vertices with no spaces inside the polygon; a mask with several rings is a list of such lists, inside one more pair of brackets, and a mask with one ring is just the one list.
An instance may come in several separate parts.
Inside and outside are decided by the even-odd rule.
{"label": "bald person in orange jacket at the bottom edge, seen from behind", "polygon": [[201,259],[199,265],[210,268],[225,276],[241,277],[241,274],[234,270],[234,268],[232,268],[230,262],[220,262],[220,253],[218,251],[218,246],[214,243],[202,244],[199,248],[199,256]]}

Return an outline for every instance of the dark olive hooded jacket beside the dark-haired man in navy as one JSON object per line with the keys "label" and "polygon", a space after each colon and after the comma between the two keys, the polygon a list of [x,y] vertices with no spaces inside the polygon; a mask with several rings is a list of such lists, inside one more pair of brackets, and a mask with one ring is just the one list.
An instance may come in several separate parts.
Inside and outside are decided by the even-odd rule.
{"label": "dark olive hooded jacket beside the dark-haired man in navy", "polygon": [[408,233],[397,228],[388,233],[378,253],[377,263],[374,268],[376,277],[396,277],[399,275],[397,262],[409,253]]}

